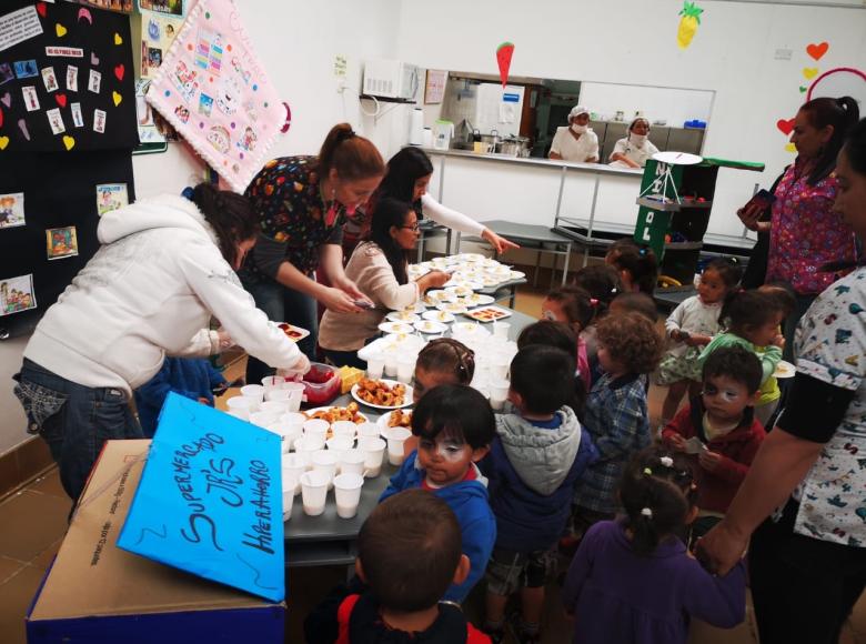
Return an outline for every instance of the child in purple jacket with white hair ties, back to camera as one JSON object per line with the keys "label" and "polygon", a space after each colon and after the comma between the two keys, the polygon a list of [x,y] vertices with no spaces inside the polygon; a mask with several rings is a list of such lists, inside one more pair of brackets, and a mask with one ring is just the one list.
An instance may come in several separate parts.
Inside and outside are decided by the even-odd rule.
{"label": "child in purple jacket with white hair ties, back to camera", "polygon": [[731,628],[745,618],[743,563],[713,576],[675,535],[694,519],[687,461],[658,447],[638,453],[620,485],[626,516],[584,536],[563,587],[575,644],[685,644],[692,617]]}

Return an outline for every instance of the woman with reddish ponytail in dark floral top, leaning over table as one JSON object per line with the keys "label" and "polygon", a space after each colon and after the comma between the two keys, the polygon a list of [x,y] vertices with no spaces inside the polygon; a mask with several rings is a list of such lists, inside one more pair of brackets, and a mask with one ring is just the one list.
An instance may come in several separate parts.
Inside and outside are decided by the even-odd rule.
{"label": "woman with reddish ponytail in dark floral top, leaning over table", "polygon": [[[340,313],[360,312],[366,296],[343,271],[342,235],[346,215],[366,202],[385,173],[375,145],[349,123],[334,125],[318,157],[269,161],[246,189],[261,234],[241,280],[256,305],[276,322],[309,330],[299,342],[309,358],[316,343],[316,302]],[[315,281],[320,271],[328,285]],[[270,370],[251,360],[246,381]]]}

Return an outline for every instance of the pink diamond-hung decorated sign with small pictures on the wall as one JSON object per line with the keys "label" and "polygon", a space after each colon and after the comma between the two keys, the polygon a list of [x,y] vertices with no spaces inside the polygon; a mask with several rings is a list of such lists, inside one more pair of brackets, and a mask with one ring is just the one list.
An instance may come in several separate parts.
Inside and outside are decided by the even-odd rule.
{"label": "pink diamond-hung decorated sign with small pictures on the wall", "polygon": [[236,192],[270,159],[286,120],[232,0],[195,4],[147,99]]}

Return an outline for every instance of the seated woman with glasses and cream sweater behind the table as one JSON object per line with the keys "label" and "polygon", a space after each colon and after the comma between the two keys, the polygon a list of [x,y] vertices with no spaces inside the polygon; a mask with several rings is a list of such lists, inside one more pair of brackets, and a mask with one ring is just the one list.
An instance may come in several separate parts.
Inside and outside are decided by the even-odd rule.
{"label": "seated woman with glasses and cream sweater behind the table", "polygon": [[416,281],[409,279],[406,253],[417,242],[417,215],[412,204],[382,199],[376,204],[369,239],[361,242],[345,266],[346,278],[373,302],[362,313],[329,309],[319,328],[319,345],[334,364],[364,368],[358,350],[379,333],[389,311],[412,306],[427,289],[440,288],[450,275],[432,271]]}

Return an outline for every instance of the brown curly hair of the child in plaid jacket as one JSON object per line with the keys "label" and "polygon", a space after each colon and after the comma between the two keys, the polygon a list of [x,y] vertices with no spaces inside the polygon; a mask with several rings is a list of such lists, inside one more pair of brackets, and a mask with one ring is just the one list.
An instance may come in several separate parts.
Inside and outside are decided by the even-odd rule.
{"label": "brown curly hair of the child in plaid jacket", "polygon": [[658,366],[664,351],[662,336],[641,313],[627,311],[607,315],[597,326],[598,345],[630,373],[650,373]]}

